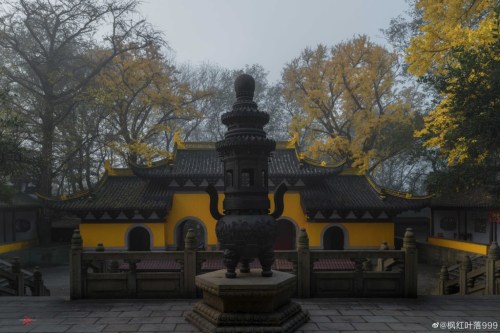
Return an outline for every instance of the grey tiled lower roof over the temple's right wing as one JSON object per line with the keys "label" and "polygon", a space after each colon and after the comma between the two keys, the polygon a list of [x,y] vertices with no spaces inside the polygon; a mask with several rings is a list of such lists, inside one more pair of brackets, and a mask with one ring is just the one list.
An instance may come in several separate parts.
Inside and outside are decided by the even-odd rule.
{"label": "grey tiled lower roof over the temple's right wing", "polygon": [[306,210],[407,210],[420,209],[430,203],[428,198],[404,198],[376,189],[367,177],[358,175],[330,176],[321,182],[306,184],[301,195]]}

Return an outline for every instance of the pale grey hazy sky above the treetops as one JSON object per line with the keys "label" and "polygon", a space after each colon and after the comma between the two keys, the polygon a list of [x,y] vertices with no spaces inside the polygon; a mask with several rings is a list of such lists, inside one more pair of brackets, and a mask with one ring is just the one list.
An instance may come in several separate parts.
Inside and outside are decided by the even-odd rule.
{"label": "pale grey hazy sky above the treetops", "polygon": [[140,7],[178,63],[258,63],[270,82],[307,46],[357,34],[385,44],[380,29],[407,8],[404,0],[144,0]]}

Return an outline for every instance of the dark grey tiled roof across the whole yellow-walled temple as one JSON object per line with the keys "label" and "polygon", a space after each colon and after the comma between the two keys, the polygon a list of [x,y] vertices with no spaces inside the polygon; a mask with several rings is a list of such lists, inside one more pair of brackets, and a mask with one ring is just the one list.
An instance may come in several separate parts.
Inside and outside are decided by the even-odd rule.
{"label": "dark grey tiled roof across the whole yellow-walled temple", "polygon": [[[179,149],[171,163],[133,169],[137,176],[107,176],[90,195],[48,200],[49,206],[67,211],[169,210],[174,191],[171,179],[221,179],[223,165],[214,149]],[[405,198],[384,192],[359,175],[340,174],[342,167],[314,165],[297,157],[295,149],[278,149],[270,158],[269,176],[300,178],[298,187],[306,211],[312,210],[408,210],[429,205],[428,199]],[[182,182],[179,182],[182,183]],[[172,185],[173,186],[173,185]],[[204,186],[197,183],[196,191]],[[201,187],[199,187],[201,186]],[[195,187],[191,187],[194,190]]]}

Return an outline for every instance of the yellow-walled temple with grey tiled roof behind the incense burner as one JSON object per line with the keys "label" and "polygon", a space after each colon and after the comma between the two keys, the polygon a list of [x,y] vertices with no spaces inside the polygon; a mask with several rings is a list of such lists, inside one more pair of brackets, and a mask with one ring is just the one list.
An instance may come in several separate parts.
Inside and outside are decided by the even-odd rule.
{"label": "yellow-walled temple with grey tiled roof behind the incense burner", "polygon": [[[393,248],[394,219],[429,206],[430,197],[381,188],[345,163],[311,160],[299,153],[296,142],[296,137],[278,142],[270,158],[270,193],[281,182],[288,186],[276,250],[294,249],[301,228],[313,249],[376,249],[384,241]],[[251,174],[240,177],[250,187],[255,179]],[[216,221],[205,192],[210,183],[219,193],[222,211],[224,169],[215,143],[177,138],[170,158],[126,169],[107,162],[92,191],[44,202],[81,219],[88,249],[102,243],[109,250],[182,250],[184,236],[193,228],[198,247],[215,250]],[[270,199],[273,203],[272,194]]]}

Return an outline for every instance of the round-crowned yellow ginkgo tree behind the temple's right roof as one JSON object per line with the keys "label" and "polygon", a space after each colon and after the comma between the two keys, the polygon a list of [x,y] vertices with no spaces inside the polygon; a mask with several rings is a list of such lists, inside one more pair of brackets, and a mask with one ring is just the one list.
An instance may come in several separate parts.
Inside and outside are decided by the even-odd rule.
{"label": "round-crowned yellow ginkgo tree behind the temple's right roof", "polygon": [[283,94],[301,110],[290,126],[307,138],[307,152],[375,172],[410,149],[419,115],[398,71],[396,54],[366,36],[307,48],[288,63]]}

